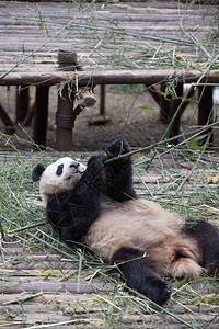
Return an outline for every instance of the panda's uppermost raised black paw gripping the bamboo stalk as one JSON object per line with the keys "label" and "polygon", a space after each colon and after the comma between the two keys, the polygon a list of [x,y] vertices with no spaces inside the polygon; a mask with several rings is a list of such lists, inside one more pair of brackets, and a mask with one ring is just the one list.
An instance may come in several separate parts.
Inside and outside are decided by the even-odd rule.
{"label": "panda's uppermost raised black paw gripping the bamboo stalk", "polygon": [[110,158],[115,158],[128,152],[130,152],[130,146],[123,137],[117,137],[116,139],[108,141],[106,145],[106,154]]}

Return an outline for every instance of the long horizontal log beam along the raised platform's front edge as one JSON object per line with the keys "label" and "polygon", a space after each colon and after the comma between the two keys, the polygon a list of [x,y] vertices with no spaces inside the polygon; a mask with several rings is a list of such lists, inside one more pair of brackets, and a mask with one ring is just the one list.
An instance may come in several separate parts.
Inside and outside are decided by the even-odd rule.
{"label": "long horizontal log beam along the raised platform's front edge", "polygon": [[[207,77],[201,79],[201,82],[219,83],[218,71],[210,71]],[[4,78],[0,79],[0,86],[31,86],[41,83],[41,86],[54,86],[62,81],[74,81],[77,78],[78,86],[84,87],[93,84],[132,84],[142,83],[151,86],[154,83],[163,83],[175,79],[178,82],[196,82],[201,76],[198,70],[177,70],[177,75],[173,69],[166,70],[88,70],[74,72],[10,72]]]}

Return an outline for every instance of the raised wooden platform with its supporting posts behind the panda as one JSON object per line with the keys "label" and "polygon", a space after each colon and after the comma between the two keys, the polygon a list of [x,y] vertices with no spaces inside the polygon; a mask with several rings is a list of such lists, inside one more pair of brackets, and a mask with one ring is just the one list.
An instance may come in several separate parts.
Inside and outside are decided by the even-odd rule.
{"label": "raised wooden platform with its supporting posts behind the panda", "polygon": [[[58,86],[57,150],[71,149],[74,121],[90,105],[84,91],[93,103],[96,86],[104,115],[104,86],[145,84],[176,136],[196,87],[198,124],[212,120],[212,87],[219,82],[217,10],[217,1],[1,1],[0,86],[16,86],[16,121],[34,116],[33,138],[39,145],[46,144],[49,87]],[[185,82],[195,83],[186,95]],[[36,87],[33,109],[30,86]],[[13,133],[2,105],[0,117]]]}

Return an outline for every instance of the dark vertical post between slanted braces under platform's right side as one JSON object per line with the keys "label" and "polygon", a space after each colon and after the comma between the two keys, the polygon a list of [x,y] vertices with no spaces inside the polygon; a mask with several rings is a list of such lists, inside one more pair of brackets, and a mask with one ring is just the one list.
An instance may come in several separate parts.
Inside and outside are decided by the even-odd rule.
{"label": "dark vertical post between slanted braces under platform's right side", "polygon": [[[175,88],[176,98],[172,99],[171,102],[171,117],[175,114],[176,110],[178,109],[182,97],[183,97],[183,83],[177,83]],[[181,124],[181,115],[183,113],[184,109],[181,109],[175,116],[175,120],[172,123],[171,129],[170,129],[170,137],[176,136],[180,133],[180,124]],[[174,140],[174,144],[177,144],[177,139]]]}

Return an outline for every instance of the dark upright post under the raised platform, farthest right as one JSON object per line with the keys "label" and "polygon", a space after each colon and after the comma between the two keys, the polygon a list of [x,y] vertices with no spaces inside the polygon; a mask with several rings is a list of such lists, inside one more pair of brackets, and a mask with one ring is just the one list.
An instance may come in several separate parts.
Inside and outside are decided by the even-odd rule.
{"label": "dark upright post under the raised platform, farthest right", "polygon": [[[212,86],[200,86],[198,87],[198,125],[204,126],[212,123],[214,120],[214,99],[212,99]],[[212,129],[206,131],[206,134],[210,134],[209,144],[212,143]],[[201,141],[204,144],[206,138]]]}

